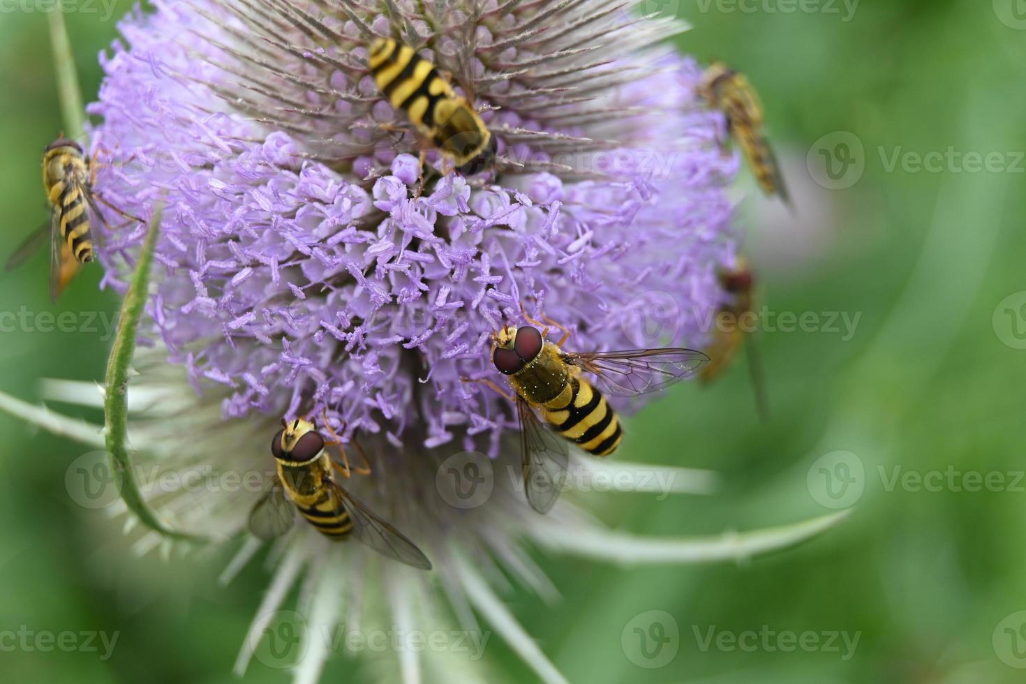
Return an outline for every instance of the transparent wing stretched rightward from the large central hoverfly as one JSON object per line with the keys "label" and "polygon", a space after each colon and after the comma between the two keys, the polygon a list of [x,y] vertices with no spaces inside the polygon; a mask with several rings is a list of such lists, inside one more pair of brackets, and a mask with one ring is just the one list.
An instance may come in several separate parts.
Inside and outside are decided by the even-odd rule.
{"label": "transparent wing stretched rightward from the large central hoverfly", "polygon": [[693,349],[635,349],[564,353],[562,360],[594,373],[595,385],[613,397],[634,397],[692,377],[709,357]]}

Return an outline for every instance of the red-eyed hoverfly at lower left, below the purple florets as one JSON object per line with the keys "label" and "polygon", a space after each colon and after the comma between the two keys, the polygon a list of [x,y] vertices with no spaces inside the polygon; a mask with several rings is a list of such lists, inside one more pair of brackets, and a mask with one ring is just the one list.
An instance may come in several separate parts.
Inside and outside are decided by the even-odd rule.
{"label": "red-eyed hoverfly at lower left, below the purple florets", "polygon": [[352,534],[389,558],[431,569],[431,561],[412,541],[336,482],[332,469],[349,477],[348,460],[344,468],[339,466],[326,449],[338,442],[325,442],[317,427],[309,420],[282,418],[281,425],[282,429],[271,441],[278,477],[249,513],[249,531],[262,539],[280,536],[291,528],[295,511],[299,511],[318,532],[330,539],[339,540]]}

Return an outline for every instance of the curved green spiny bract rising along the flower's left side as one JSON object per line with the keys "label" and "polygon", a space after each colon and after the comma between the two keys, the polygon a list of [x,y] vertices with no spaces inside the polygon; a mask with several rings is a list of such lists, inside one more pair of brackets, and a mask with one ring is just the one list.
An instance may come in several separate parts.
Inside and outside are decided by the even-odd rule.
{"label": "curved green spiny bract rising along the flower's left side", "polygon": [[139,266],[132,275],[131,284],[121,305],[120,327],[114,337],[111,356],[107,361],[105,380],[104,414],[107,432],[107,450],[111,454],[111,472],[119,476],[121,498],[128,510],[139,517],[150,529],[165,537],[187,541],[202,541],[201,537],[177,532],[168,527],[146,504],[135,479],[135,470],[127,447],[128,435],[128,368],[135,354],[135,336],[146,308],[150,286],[150,269],[153,252],[160,233],[163,205],[157,204],[150,222],[150,232],[139,255]]}

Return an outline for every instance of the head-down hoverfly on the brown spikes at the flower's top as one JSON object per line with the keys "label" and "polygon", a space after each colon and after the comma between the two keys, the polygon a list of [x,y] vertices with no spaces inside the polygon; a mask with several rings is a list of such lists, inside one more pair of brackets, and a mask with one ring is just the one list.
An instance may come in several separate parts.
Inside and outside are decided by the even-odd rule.
{"label": "head-down hoverfly on the brown spikes at the flower's top", "polygon": [[470,175],[491,168],[495,135],[434,65],[392,38],[377,38],[370,44],[368,62],[374,83],[392,107],[404,112],[460,171]]}

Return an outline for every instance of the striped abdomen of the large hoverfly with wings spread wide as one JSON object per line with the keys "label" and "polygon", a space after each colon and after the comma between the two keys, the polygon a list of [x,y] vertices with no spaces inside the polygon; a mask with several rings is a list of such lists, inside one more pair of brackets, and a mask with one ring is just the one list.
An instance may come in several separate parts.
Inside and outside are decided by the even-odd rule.
{"label": "striped abdomen of the large hoverfly with wings spread wide", "polygon": [[616,451],[624,437],[616,411],[583,377],[570,377],[559,396],[544,404],[543,415],[556,432],[596,456]]}

